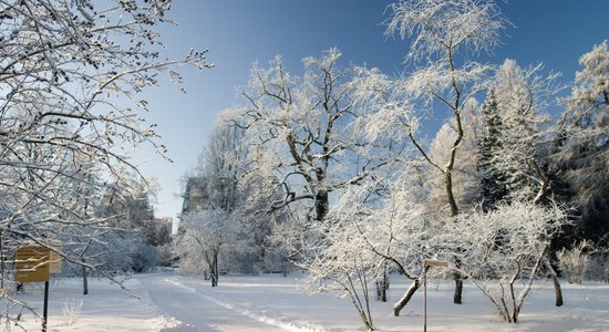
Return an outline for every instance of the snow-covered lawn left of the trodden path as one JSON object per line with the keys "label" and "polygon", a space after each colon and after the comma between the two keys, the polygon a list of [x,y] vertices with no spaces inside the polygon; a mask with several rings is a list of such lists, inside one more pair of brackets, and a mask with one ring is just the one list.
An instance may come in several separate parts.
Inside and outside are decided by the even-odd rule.
{"label": "snow-covered lawn left of the trodden path", "polygon": [[[125,282],[128,293],[104,279],[92,278],[89,284],[89,294],[83,295],[81,279],[56,279],[51,282],[48,331],[148,332],[178,324],[151,301],[137,278]],[[33,305],[40,315],[43,297],[43,283],[28,283],[25,293],[14,295]],[[20,322],[27,331],[41,331],[41,320],[29,312],[22,313]]]}

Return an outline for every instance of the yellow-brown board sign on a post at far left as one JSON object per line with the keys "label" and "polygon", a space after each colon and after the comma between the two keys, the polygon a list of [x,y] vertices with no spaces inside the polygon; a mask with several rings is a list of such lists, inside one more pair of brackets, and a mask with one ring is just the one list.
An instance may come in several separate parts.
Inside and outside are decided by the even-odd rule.
{"label": "yellow-brown board sign on a post at far left", "polygon": [[14,281],[49,281],[51,250],[45,247],[23,247],[17,249],[14,257]]}

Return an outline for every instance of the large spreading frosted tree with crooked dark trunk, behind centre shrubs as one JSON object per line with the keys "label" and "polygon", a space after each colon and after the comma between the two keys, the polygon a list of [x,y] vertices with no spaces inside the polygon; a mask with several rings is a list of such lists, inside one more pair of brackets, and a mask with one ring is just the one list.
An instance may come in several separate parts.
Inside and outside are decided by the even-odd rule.
{"label": "large spreading frosted tree with crooked dark trunk, behind centre shrubs", "polygon": [[367,146],[350,127],[353,105],[351,69],[339,65],[341,53],[331,49],[320,58],[303,59],[302,77],[290,75],[281,58],[268,69],[255,65],[246,105],[234,113],[235,124],[251,137],[250,159],[257,173],[279,178],[283,198],[272,210],[295,201],[310,205],[310,219],[328,215],[330,195],[357,184],[383,160],[359,158]]}

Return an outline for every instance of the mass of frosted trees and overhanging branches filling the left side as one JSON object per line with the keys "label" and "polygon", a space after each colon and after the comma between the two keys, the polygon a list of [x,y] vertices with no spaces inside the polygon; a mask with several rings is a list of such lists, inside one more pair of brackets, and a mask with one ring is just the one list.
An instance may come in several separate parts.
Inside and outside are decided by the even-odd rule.
{"label": "mass of frosted trees and overhanging branches filling the left side", "polygon": [[[130,156],[165,156],[142,91],[207,69],[206,51],[166,58],[171,1],[0,3],[0,323],[38,310],[16,299],[16,251],[44,247],[65,269],[121,282],[149,264],[151,184]],[[80,272],[79,272],[80,273]]]}

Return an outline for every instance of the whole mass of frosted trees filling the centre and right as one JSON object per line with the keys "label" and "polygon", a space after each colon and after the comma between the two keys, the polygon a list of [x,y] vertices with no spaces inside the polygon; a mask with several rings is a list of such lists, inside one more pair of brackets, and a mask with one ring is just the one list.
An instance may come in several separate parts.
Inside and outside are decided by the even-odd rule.
{"label": "whole mass of frosted trees filling the centre and right", "polygon": [[[217,286],[223,269],[287,260],[311,290],[349,295],[369,330],[369,287],[411,279],[398,315],[426,259],[448,262],[455,303],[466,279],[507,322],[539,277],[557,305],[557,277],[584,260],[607,280],[607,41],[566,85],[540,64],[476,62],[509,24],[494,1],[404,0],[385,24],[410,42],[401,76],[343,65],[337,49],[300,76],[281,56],[254,64],[190,175],[204,199],[183,219],[183,269]],[[436,133],[429,118],[444,118]]]}

